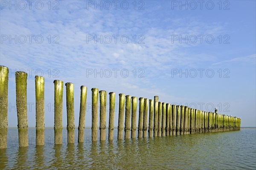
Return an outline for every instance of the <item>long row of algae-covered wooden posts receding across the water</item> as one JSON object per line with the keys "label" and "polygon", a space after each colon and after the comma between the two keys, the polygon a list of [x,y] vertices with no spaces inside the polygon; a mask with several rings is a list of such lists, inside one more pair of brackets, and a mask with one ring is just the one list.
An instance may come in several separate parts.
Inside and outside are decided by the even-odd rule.
{"label": "long row of algae-covered wooden posts receding across the water", "polygon": [[[8,76],[9,70],[0,66],[0,148],[7,147],[7,113],[8,113]],[[19,146],[28,146],[27,135],[27,74],[15,72],[16,106],[18,119]],[[67,102],[67,142],[74,143],[74,85],[66,84]],[[98,129],[98,99],[100,103],[100,140],[106,139],[106,99],[107,92],[92,88],[92,141],[97,141]],[[35,76],[36,100],[36,145],[44,145],[44,77]],[[81,100],[79,113],[78,142],[84,142],[84,124],[86,111],[87,87],[81,86]],[[108,139],[113,140],[115,93],[109,93],[109,125]],[[148,111],[149,101],[149,111]],[[62,103],[63,81],[54,80],[54,143],[62,144]],[[149,115],[148,115],[149,113]],[[125,128],[124,128],[125,115]],[[171,105],[159,102],[159,97],[153,99],[139,98],[139,122],[136,127],[137,97],[119,94],[119,119],[117,139],[153,136],[183,135],[189,133],[207,133],[240,130],[241,119],[215,112],[201,111],[187,106]],[[149,117],[148,117],[149,116]],[[149,120],[149,122],[148,122]],[[131,132],[131,137],[130,137]],[[154,133],[154,134],[153,134]]]}

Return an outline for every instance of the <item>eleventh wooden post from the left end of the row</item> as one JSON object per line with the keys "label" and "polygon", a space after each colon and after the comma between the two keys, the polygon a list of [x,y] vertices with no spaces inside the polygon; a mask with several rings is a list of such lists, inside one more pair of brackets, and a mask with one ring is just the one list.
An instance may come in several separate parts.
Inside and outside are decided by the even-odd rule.
{"label": "eleventh wooden post from the left end of the row", "polygon": [[125,96],[125,139],[130,139],[131,133],[131,96]]}

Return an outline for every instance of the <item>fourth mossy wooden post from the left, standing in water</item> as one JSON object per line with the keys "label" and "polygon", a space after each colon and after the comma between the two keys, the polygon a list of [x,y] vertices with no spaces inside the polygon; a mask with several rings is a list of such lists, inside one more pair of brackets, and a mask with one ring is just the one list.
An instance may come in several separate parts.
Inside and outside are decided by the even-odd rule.
{"label": "fourth mossy wooden post from the left, standing in water", "polygon": [[54,144],[62,144],[63,81],[54,80]]}

